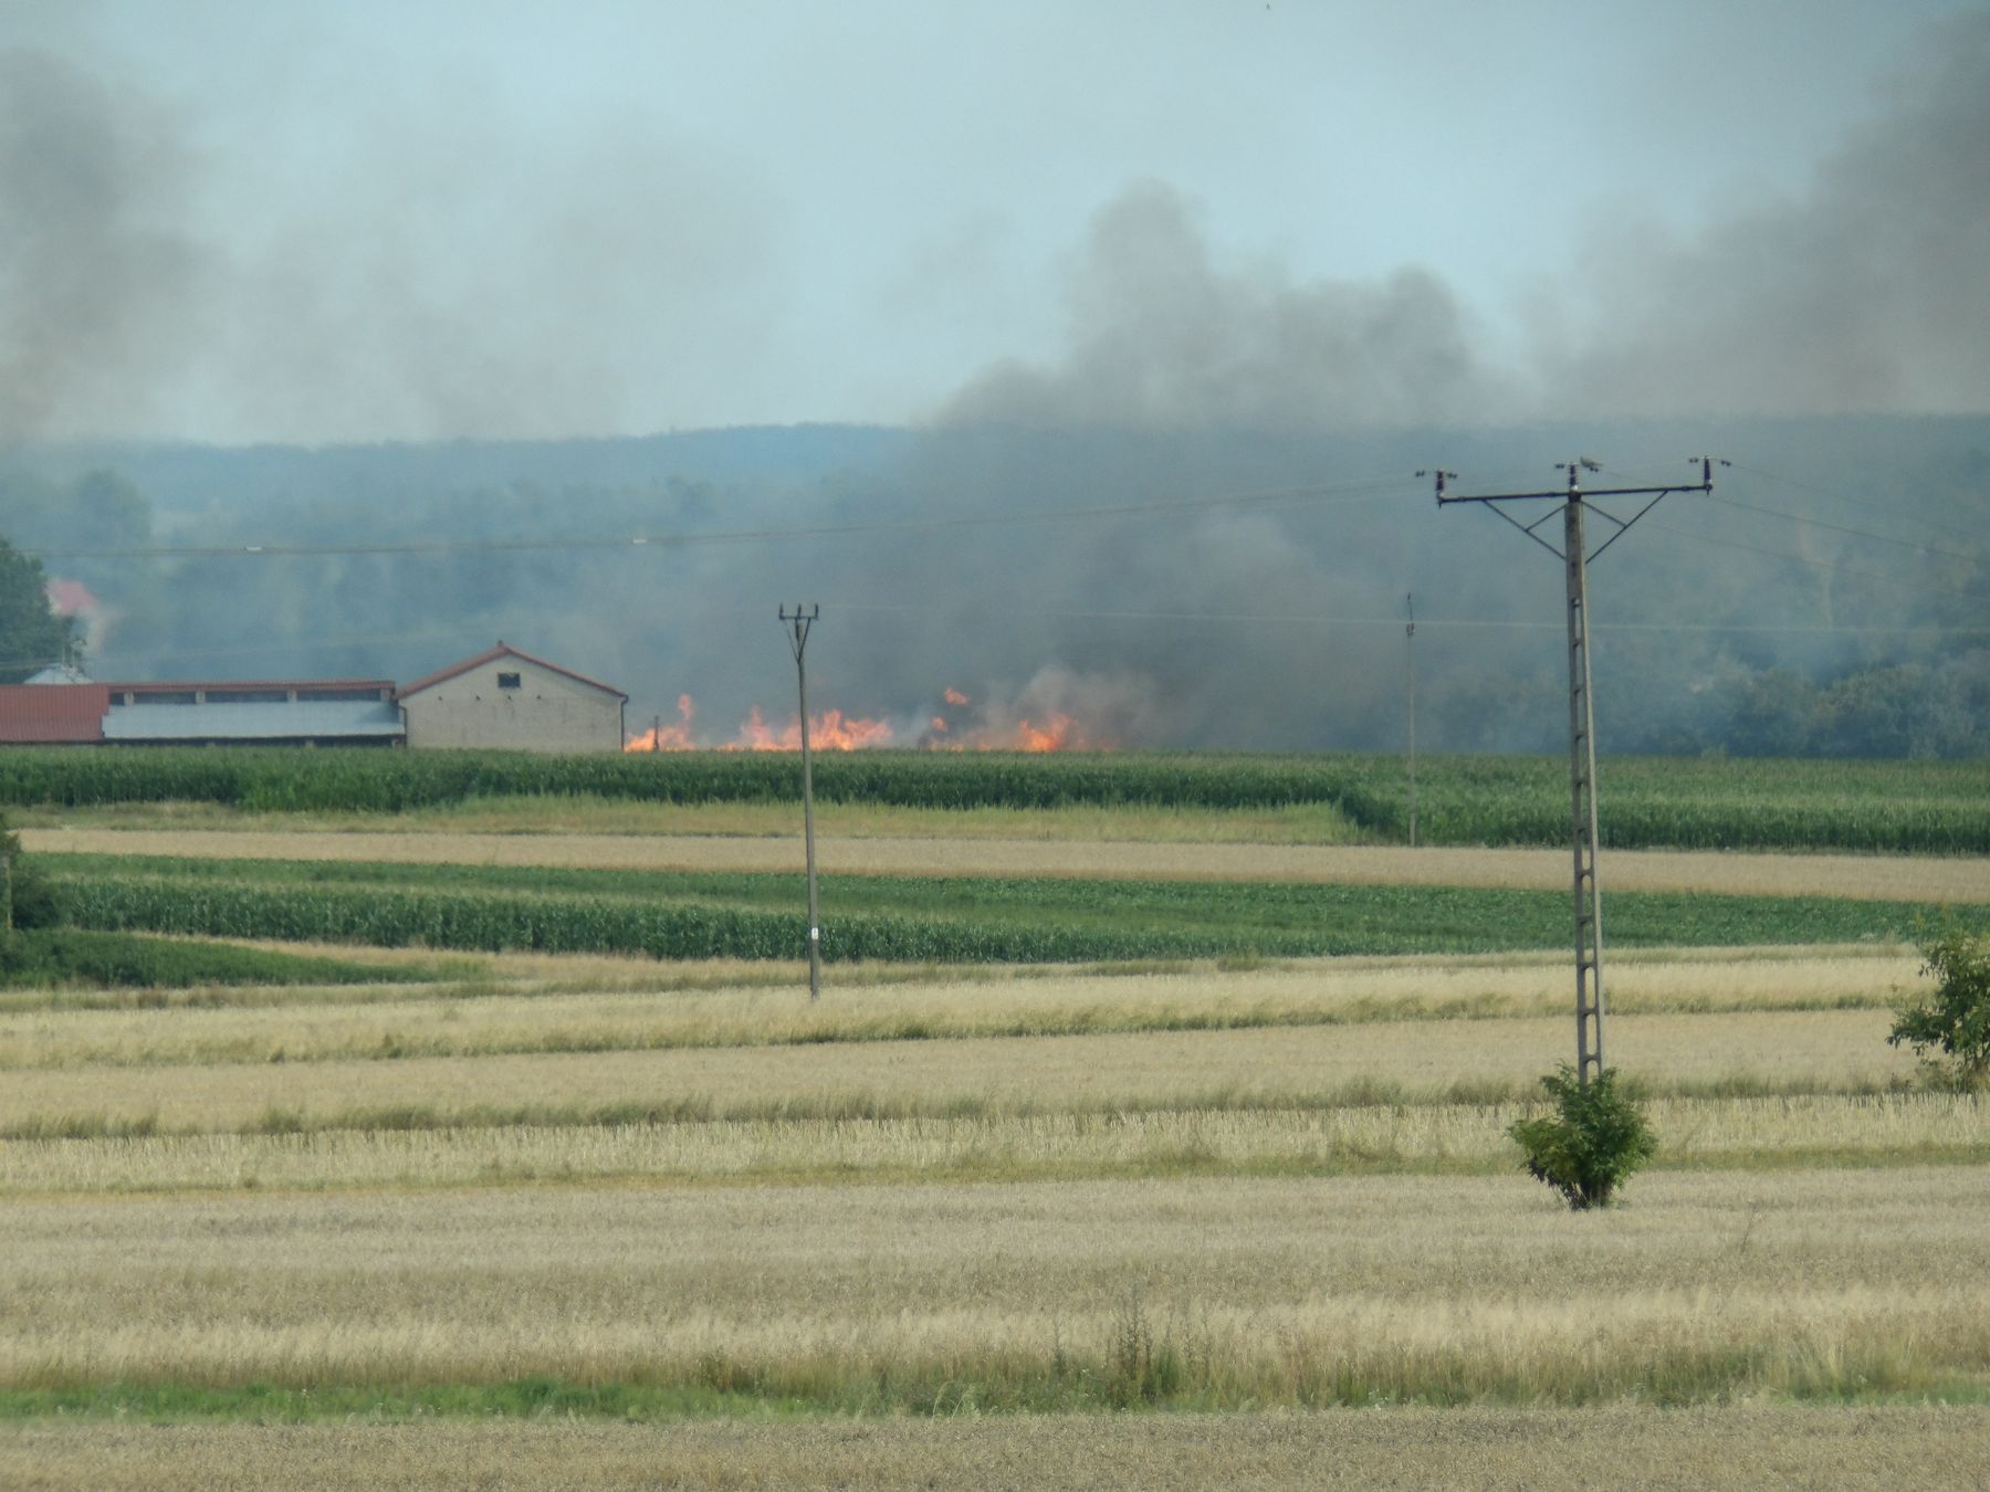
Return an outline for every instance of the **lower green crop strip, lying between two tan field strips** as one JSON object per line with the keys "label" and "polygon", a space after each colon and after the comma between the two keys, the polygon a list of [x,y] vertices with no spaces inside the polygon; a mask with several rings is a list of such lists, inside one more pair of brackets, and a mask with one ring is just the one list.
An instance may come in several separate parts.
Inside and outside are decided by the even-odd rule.
{"label": "lower green crop strip, lying between two tan field strips", "polygon": [[[84,927],[438,949],[792,959],[796,875],[48,855]],[[1220,955],[1483,953],[1568,941],[1554,891],[1417,885],[933,879],[824,883],[830,959],[1071,963]],[[1620,893],[1618,947],[1912,937],[1900,901]]]}

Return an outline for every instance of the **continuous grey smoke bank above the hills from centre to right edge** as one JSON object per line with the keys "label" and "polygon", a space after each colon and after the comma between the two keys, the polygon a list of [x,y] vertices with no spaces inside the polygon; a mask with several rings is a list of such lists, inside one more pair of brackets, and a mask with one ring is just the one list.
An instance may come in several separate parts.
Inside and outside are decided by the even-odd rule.
{"label": "continuous grey smoke bank above the hills from centre to right edge", "polygon": [[[1717,163],[1709,163],[1717,167]],[[1711,171],[1709,171],[1711,173]],[[1491,229],[1487,229],[1491,231]],[[1809,189],[1697,235],[1600,231],[1500,366],[1445,282],[1218,263],[1190,201],[1130,187],[1067,277],[1067,346],[939,424],[1321,430],[1990,408],[1990,16],[1940,28]]]}

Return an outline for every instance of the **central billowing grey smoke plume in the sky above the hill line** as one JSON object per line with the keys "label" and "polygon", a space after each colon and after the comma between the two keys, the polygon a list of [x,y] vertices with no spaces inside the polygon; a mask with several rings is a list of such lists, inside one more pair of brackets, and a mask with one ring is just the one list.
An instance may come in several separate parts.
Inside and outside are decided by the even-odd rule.
{"label": "central billowing grey smoke plume in the sky above the hill line", "polygon": [[1098,215],[1069,302],[1063,362],[989,368],[941,422],[1317,428],[1498,408],[1465,312],[1435,275],[1301,284],[1222,271],[1188,199],[1160,183]]}

